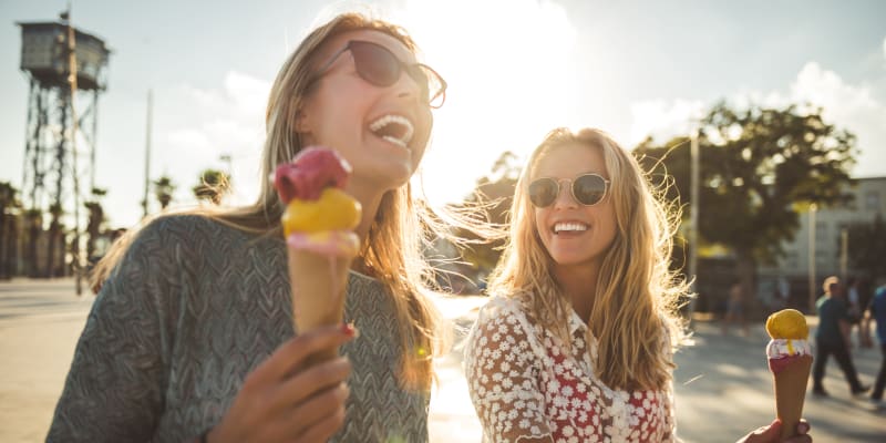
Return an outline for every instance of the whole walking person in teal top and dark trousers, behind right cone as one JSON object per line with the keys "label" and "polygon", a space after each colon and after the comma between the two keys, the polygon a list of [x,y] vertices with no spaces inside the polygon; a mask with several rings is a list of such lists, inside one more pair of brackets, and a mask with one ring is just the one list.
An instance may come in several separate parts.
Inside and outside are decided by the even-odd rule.
{"label": "whole walking person in teal top and dark trousers, behind right cone", "polygon": [[846,288],[836,276],[827,277],[823,285],[824,295],[815,303],[818,312],[818,328],[815,330],[815,363],[812,370],[813,394],[827,396],[824,389],[825,367],[830,356],[839,364],[839,369],[849,383],[853,395],[867,392],[870,387],[858,380],[858,373],[849,354],[849,327],[852,316],[846,306]]}

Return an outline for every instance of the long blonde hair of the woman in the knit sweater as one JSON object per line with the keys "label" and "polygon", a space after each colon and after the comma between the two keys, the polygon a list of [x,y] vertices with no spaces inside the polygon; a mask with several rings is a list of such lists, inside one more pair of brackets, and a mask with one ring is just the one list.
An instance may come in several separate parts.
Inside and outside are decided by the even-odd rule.
{"label": "long blonde hair of the woman in the knit sweater", "polygon": [[[357,30],[373,30],[392,35],[410,51],[416,45],[406,31],[389,22],[359,13],[343,13],[308,34],[280,68],[270,91],[266,113],[267,138],[262,150],[261,177],[268,177],[277,165],[289,162],[303,146],[293,127],[305,99],[312,92],[311,78],[323,44],[331,38]],[[238,208],[198,208],[199,214],[227,226],[260,235],[282,236],[280,215],[284,205],[270,181],[262,179],[257,200]],[[444,347],[439,333],[442,320],[426,297],[425,282],[434,270],[422,256],[423,223],[430,218],[426,205],[413,200],[409,183],[384,194],[363,243],[361,257],[378,272],[393,299],[402,344],[401,382],[404,387],[427,390],[433,380],[432,358]],[[92,275],[97,288],[123,256],[136,233],[119,240]]]}

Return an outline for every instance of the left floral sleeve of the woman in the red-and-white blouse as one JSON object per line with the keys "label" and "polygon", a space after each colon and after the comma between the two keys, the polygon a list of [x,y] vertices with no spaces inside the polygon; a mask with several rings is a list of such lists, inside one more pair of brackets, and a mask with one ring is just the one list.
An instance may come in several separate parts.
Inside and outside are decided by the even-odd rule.
{"label": "left floral sleeve of the woman in the red-and-white blouse", "polygon": [[484,441],[550,436],[526,318],[493,300],[481,310],[467,340],[465,374]]}

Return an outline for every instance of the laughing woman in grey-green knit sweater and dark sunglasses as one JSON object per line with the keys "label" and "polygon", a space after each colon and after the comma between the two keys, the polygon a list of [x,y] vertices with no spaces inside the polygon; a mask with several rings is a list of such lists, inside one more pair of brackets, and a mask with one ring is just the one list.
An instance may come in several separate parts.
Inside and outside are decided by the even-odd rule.
{"label": "laughing woman in grey-green knit sweater and dark sunglasses", "polygon": [[[353,166],[363,244],[346,321],[359,337],[292,337],[270,183],[250,206],[162,216],[101,264],[48,441],[426,441],[440,323],[409,181],[445,89],[396,25],[342,14],[313,30],[271,89],[261,176],[310,145]],[[303,364],[339,344],[344,357]]]}

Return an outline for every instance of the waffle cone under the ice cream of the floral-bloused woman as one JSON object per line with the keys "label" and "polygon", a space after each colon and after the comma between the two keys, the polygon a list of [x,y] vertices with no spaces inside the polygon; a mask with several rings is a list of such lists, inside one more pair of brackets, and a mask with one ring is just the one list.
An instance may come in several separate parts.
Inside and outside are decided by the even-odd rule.
{"label": "waffle cone under the ice cream of the floral-bloused woman", "polygon": [[782,422],[781,441],[796,434],[796,425],[803,416],[803,401],[810,379],[812,356],[800,356],[781,372],[773,374],[775,383],[775,413]]}

